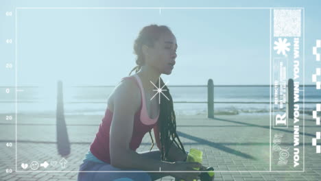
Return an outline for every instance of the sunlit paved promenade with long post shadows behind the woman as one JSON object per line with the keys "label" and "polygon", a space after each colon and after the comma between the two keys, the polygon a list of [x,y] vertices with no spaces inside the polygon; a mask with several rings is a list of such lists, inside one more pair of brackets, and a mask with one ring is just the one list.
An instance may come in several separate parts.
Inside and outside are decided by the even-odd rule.
{"label": "sunlit paved promenade with long post shadows behind the woman", "polygon": [[[102,116],[66,116],[65,119],[71,142],[71,154],[65,157],[67,163],[62,162],[64,160],[57,151],[55,117],[19,115],[17,147],[5,146],[7,142],[15,142],[14,122],[8,124],[8,121],[1,120],[0,180],[77,180],[79,165],[93,141]],[[302,124],[301,117],[298,125]],[[321,154],[316,154],[316,147],[311,146],[312,138],[316,137],[317,131],[321,131],[321,127],[316,126],[311,116],[305,117],[305,149],[303,134],[299,135],[298,167],[294,167],[292,120],[289,120],[288,129],[272,129],[270,132],[269,115],[221,115],[215,119],[207,119],[205,115],[178,116],[177,130],[187,151],[190,148],[202,150],[203,165],[215,168],[215,180],[321,180]],[[302,126],[300,132],[303,132]],[[321,144],[320,140],[318,144]],[[150,146],[150,136],[146,134],[137,151],[149,150]],[[286,149],[288,154],[284,152]],[[280,159],[283,165],[278,165]],[[32,171],[29,168],[32,161],[39,162],[39,165],[47,161],[49,165],[46,169],[36,169],[39,172],[26,172]],[[27,163],[29,167],[23,169],[22,163]],[[5,173],[5,169],[12,169],[13,172]],[[166,177],[162,180],[174,179]]]}

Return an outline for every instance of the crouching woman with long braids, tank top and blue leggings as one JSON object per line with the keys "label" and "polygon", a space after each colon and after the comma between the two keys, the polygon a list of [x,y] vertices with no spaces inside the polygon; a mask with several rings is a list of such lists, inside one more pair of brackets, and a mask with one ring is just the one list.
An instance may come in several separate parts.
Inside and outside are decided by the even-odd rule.
{"label": "crouching woman with long braids, tank top and blue leggings", "polygon": [[[119,172],[80,172],[79,181],[119,178],[150,181],[164,176],[187,181],[198,178],[200,172],[186,171],[204,167],[198,162],[184,162],[187,152],[176,133],[173,100],[159,78],[162,73],[169,75],[174,69],[177,47],[176,38],[168,27],[149,25],[141,29],[134,42],[137,66],[132,71],[136,73],[124,77],[108,97],[104,119],[80,165],[80,171]],[[166,96],[161,95],[160,104],[158,99],[151,99],[158,80]],[[147,132],[152,138],[152,129],[159,150],[151,151],[151,148],[150,152],[136,153]],[[182,172],[158,172],[160,169]]]}

